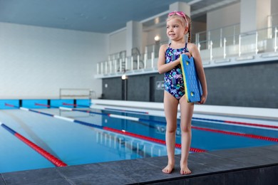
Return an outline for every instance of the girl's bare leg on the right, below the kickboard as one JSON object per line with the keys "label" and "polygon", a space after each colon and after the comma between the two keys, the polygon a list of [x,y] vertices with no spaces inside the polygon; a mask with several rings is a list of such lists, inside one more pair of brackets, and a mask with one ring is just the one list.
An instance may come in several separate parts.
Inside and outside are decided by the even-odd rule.
{"label": "girl's bare leg on the right, below the kickboard", "polygon": [[193,115],[193,109],[193,103],[188,103],[184,96],[180,98],[180,130],[182,132],[180,174],[191,174],[191,171],[187,166],[187,160],[191,144],[191,119]]}

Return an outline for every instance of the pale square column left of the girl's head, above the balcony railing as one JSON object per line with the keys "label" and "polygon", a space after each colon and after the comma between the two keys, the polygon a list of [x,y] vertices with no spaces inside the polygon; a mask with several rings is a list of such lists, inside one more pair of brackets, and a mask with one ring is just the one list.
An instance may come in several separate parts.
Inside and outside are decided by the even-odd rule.
{"label": "pale square column left of the girl's head, above the balcony railing", "polygon": [[136,21],[126,23],[126,56],[131,56],[132,48],[138,48],[142,53],[142,34],[142,23]]}

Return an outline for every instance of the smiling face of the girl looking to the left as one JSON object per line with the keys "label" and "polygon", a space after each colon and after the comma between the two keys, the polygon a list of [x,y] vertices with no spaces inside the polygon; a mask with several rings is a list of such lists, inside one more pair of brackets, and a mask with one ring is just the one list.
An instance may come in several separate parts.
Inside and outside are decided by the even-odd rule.
{"label": "smiling face of the girl looking to the left", "polygon": [[188,28],[186,26],[182,26],[182,23],[179,18],[172,18],[169,21],[167,21],[167,36],[172,41],[180,41],[185,37],[185,34],[188,31]]}

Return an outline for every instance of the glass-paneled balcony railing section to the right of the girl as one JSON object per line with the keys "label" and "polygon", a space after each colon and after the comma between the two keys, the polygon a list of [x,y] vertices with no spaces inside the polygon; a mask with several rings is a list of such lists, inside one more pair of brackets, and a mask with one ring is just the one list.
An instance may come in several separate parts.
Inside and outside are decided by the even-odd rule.
{"label": "glass-paneled balcony railing section to the right of the girl", "polygon": [[203,48],[200,49],[200,54],[205,64],[218,59],[254,56],[259,53],[276,53],[277,27],[224,37],[222,38],[222,46],[217,42],[220,41],[210,40],[208,44],[207,41],[197,43],[198,48]]}

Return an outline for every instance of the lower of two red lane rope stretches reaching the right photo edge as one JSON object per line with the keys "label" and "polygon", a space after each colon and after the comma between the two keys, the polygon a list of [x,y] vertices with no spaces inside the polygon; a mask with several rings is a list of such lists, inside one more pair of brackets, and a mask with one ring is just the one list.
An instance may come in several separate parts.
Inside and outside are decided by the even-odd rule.
{"label": "lower of two red lane rope stretches reaching the right photo edge", "polygon": [[219,130],[219,129],[209,129],[209,128],[202,128],[202,127],[195,127],[192,126],[193,129],[200,129],[200,130],[205,130],[208,132],[217,132],[217,133],[222,133],[222,134],[230,134],[230,135],[236,135],[236,136],[242,136],[242,137],[250,137],[253,139],[262,139],[262,140],[267,140],[271,142],[278,142],[278,138],[275,137],[265,137],[265,136],[259,136],[259,135],[254,135],[254,134],[242,134],[238,132],[229,132],[229,131],[224,131],[224,130]]}

